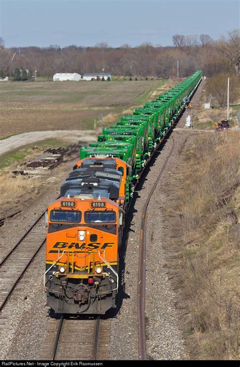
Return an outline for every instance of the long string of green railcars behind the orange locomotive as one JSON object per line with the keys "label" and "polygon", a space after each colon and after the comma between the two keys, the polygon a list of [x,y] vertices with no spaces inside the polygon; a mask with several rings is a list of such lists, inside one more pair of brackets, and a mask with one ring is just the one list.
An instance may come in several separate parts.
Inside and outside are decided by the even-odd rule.
{"label": "long string of green railcars behind the orange locomotive", "polygon": [[192,96],[201,79],[202,71],[197,70],[155,100],[137,108],[133,115],[123,116],[115,126],[104,128],[97,143],[80,149],[80,158],[121,158],[132,167],[129,179],[134,179],[136,173],[145,166],[156,143],[166,134],[185,106],[185,98]]}

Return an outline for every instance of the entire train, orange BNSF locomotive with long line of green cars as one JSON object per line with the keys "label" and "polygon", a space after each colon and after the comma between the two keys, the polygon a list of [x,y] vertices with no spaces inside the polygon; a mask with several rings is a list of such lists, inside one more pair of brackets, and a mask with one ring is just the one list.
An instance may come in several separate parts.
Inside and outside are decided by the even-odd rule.
{"label": "entire train, orange BNSF locomotive with long line of green cars", "polygon": [[202,71],[194,72],[80,149],[81,160],[47,212],[44,286],[55,313],[105,314],[115,307],[134,188],[201,79]]}

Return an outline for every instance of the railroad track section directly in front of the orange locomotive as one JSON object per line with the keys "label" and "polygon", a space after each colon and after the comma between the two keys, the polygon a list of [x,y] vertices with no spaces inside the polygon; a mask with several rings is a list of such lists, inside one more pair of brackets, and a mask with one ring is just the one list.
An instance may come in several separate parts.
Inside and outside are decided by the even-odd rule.
{"label": "railroad track section directly in front of the orange locomotive", "polygon": [[110,319],[101,316],[62,315],[55,332],[51,359],[109,359],[110,328]]}

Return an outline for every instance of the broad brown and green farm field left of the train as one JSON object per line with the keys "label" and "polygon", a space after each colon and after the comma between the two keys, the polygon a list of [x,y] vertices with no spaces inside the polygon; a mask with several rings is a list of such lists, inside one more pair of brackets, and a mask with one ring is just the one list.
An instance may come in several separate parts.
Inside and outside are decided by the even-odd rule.
{"label": "broad brown and green farm field left of the train", "polygon": [[[9,82],[0,90],[0,138],[28,131],[93,129],[154,99],[173,81]],[[111,121],[113,122],[113,121]]]}

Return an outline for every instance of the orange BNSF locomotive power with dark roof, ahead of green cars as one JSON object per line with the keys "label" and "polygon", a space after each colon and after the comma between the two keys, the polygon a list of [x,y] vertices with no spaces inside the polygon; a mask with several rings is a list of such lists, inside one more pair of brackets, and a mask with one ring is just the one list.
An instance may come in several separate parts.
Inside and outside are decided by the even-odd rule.
{"label": "orange BNSF locomotive power with dark roof, ahead of green cars", "polygon": [[104,314],[115,306],[128,165],[79,161],[48,207],[44,284],[55,313]]}

